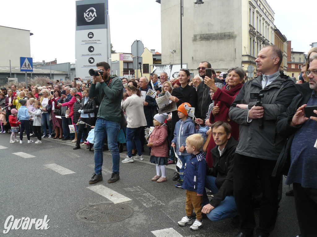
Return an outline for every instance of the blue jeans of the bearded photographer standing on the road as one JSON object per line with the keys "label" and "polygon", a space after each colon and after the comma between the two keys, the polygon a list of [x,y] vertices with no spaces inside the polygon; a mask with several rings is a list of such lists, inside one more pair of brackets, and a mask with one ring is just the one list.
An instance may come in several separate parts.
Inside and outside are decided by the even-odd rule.
{"label": "blue jeans of the bearded photographer standing on the road", "polygon": [[94,159],[95,173],[101,174],[103,164],[103,143],[108,137],[108,148],[112,155],[112,172],[119,174],[120,153],[118,149],[118,135],[120,131],[120,122],[112,122],[106,119],[97,118],[94,130]]}

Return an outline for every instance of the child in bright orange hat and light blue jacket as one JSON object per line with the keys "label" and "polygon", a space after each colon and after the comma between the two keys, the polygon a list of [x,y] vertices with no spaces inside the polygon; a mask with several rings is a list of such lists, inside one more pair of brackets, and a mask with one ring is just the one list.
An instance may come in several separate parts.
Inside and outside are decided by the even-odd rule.
{"label": "child in bright orange hat and light blue jacket", "polygon": [[191,107],[189,103],[183,103],[178,106],[177,114],[180,120],[175,125],[174,138],[171,144],[172,147],[175,147],[175,152],[183,163],[183,166],[179,168],[179,176],[181,180],[177,185],[175,185],[177,188],[181,188],[183,185],[185,163],[187,163],[191,158],[191,154],[188,154],[185,149],[186,138],[194,134],[196,131],[193,120],[188,118],[188,113],[184,107],[184,104],[187,104],[189,107]]}

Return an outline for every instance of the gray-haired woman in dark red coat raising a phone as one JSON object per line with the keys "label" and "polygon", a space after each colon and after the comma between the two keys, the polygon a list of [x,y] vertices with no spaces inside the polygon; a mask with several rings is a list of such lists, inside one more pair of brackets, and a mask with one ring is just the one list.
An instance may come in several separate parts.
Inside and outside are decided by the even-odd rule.
{"label": "gray-haired woman in dark red coat raising a phone", "polygon": [[[229,118],[229,109],[232,102],[235,100],[245,77],[245,71],[242,67],[233,67],[228,70],[226,78],[227,85],[219,89],[215,85],[215,81],[209,77],[205,77],[204,83],[210,88],[210,91],[215,92],[213,96],[214,108],[210,113],[209,122],[213,124],[217,121],[224,121],[231,125],[231,137],[236,141],[239,139],[239,125]],[[210,131],[211,132],[211,131]],[[214,139],[211,137],[208,145],[206,161],[208,167],[212,168],[211,149],[216,146]]]}

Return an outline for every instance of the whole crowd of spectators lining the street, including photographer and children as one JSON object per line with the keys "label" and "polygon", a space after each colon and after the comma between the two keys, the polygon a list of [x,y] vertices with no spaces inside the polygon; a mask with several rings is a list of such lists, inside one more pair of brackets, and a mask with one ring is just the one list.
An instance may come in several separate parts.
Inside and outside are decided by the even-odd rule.
{"label": "whole crowd of spectators lining the street, including photographer and children", "polygon": [[[186,190],[186,216],[178,225],[198,230],[203,215],[214,222],[232,218],[239,226],[235,237],[251,237],[254,230],[257,237],[268,237],[273,231],[284,174],[287,184],[293,184],[301,236],[316,236],[317,115],[305,113],[317,102],[317,48],[309,51],[296,84],[279,70],[282,59],[276,46],[262,48],[252,80],[242,67],[224,73],[206,61],[198,65],[194,78],[188,69],[180,69],[177,79],[168,80],[162,72],[128,80],[110,75],[110,65],[100,62],[98,76],[87,84],[79,78],[71,85],[2,88],[1,132],[11,132],[10,143],[23,143],[24,131],[28,143],[31,137],[37,137],[35,143],[44,137],[72,140],[74,149],[93,143],[95,168],[89,184],[103,180],[105,143],[113,161],[108,183],[120,179],[124,143],[122,163],[144,160],[146,145],[149,161],[156,165],[152,181],[170,179],[165,166],[177,162],[172,179]],[[212,76],[206,76],[206,69]],[[149,89],[155,98],[144,96]],[[156,98],[167,92],[177,110],[159,114]],[[316,108],[311,111],[317,114]],[[68,125],[74,125],[74,133]],[[255,195],[255,189],[261,195]],[[255,203],[260,207],[257,228]]]}

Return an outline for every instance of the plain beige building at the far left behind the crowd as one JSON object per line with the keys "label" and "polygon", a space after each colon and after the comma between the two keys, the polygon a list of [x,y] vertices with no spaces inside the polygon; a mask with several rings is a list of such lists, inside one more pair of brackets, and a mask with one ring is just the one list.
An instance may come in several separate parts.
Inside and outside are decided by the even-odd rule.
{"label": "plain beige building at the far left behind the crowd", "polygon": [[31,57],[29,30],[0,26],[0,66],[20,67],[20,57]]}

